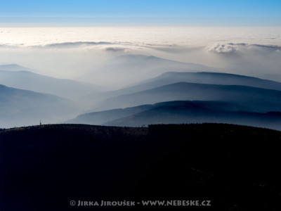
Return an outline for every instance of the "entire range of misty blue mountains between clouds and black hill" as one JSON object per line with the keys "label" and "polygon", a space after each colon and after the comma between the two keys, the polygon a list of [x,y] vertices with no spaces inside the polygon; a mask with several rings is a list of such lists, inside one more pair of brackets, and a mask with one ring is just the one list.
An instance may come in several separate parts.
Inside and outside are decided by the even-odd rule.
{"label": "entire range of misty blue mountains between clouds and black hill", "polygon": [[[120,84],[124,79],[134,85],[98,91],[100,87],[92,84],[46,77],[20,65],[0,65],[0,84],[7,86],[1,86],[0,125],[13,127],[37,124],[38,119],[44,122],[69,119],[67,123],[130,127],[223,122],[280,129],[280,82],[219,72],[194,72],[192,68],[211,70],[204,65],[153,56],[120,56],[86,78],[93,82],[95,77],[103,83],[99,77],[108,75]],[[164,72],[168,69],[180,72]],[[186,70],[193,72],[183,72]],[[147,79],[158,73],[161,75]],[[146,79],[141,81],[141,75]]]}

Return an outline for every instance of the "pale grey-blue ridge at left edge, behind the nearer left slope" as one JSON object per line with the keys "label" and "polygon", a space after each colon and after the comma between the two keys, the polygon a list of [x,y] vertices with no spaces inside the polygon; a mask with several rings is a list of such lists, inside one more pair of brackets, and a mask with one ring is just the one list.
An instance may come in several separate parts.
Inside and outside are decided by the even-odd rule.
{"label": "pale grey-blue ridge at left edge, behind the nearer left slope", "polygon": [[[4,68],[2,67],[2,69]],[[18,70],[18,68],[16,70]],[[27,89],[30,91],[55,94],[57,96],[71,99],[76,99],[85,94],[100,91],[100,87],[92,84],[77,82],[70,79],[57,79],[30,71],[4,71],[1,70],[1,67],[0,84],[17,89]]]}

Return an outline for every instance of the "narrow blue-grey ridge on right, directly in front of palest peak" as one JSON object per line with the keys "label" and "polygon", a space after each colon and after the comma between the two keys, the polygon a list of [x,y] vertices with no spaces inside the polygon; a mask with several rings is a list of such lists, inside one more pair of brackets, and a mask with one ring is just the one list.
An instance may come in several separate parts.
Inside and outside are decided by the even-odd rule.
{"label": "narrow blue-grey ridge on right, directly in front of palest peak", "polygon": [[116,91],[97,92],[88,96],[83,96],[81,101],[85,101],[91,106],[96,106],[97,101],[103,101],[106,98],[120,96],[124,94],[133,94],[147,89],[162,87],[177,82],[190,82],[197,84],[218,84],[218,85],[241,85],[263,89],[281,90],[281,83],[256,77],[244,75],[233,75],[218,72],[165,72],[159,77],[145,80],[140,84],[118,89]]}

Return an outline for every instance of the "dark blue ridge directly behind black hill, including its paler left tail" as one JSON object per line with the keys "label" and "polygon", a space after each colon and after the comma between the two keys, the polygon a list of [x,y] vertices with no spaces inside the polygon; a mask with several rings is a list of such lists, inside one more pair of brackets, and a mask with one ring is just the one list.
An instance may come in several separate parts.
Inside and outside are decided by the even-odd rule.
{"label": "dark blue ridge directly behind black hill, including its paler left tail", "polygon": [[281,130],[281,112],[256,113],[242,109],[235,103],[218,101],[171,101],[86,113],[67,123],[143,127],[148,124],[214,122]]}

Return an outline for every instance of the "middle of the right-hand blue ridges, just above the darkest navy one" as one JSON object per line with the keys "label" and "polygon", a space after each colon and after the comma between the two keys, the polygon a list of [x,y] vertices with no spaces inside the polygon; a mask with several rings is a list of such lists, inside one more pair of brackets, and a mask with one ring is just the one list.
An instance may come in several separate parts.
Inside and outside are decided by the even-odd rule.
{"label": "middle of the right-hand blue ridges, just above the darkest navy one", "polygon": [[108,98],[100,103],[98,109],[126,108],[164,101],[225,101],[251,112],[281,111],[281,91],[187,82]]}

